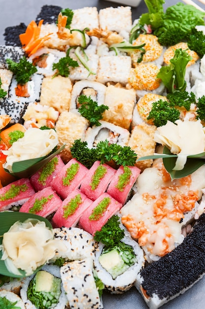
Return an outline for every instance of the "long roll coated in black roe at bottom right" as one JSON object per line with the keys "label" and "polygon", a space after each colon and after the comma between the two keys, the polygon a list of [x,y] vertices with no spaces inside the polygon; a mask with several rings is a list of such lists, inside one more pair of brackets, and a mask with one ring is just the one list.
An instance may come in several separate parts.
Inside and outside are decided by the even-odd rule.
{"label": "long roll coated in black roe at bottom right", "polygon": [[[205,213],[172,252],[137,275],[135,286],[147,306],[157,309],[183,294],[205,274]],[[184,267],[186,265],[186,267]]]}

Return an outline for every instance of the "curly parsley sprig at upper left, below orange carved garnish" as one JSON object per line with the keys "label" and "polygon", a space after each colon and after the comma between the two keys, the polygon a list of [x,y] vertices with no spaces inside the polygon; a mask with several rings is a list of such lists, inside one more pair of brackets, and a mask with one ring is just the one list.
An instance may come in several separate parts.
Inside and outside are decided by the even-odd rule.
{"label": "curly parsley sprig at upper left, below orange carved garnish", "polygon": [[6,59],[8,69],[14,73],[19,84],[24,85],[29,81],[31,75],[37,72],[37,68],[23,56],[19,63]]}

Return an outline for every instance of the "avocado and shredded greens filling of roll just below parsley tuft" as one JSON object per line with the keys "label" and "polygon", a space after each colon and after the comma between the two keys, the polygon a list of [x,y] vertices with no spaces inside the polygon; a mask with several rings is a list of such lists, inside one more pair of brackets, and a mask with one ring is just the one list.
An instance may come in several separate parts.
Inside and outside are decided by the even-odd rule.
{"label": "avocado and shredded greens filling of roll just below parsley tuft", "polygon": [[133,247],[119,242],[115,247],[103,249],[99,257],[101,266],[115,279],[137,262]]}

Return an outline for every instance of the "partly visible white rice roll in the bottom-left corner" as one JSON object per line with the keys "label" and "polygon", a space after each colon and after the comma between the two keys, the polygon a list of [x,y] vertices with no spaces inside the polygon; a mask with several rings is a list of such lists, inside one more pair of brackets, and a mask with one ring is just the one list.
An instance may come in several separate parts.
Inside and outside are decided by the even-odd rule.
{"label": "partly visible white rice roll in the bottom-left corner", "polygon": [[5,306],[4,308],[25,309],[24,303],[18,295],[2,288],[0,290],[0,300],[1,304]]}

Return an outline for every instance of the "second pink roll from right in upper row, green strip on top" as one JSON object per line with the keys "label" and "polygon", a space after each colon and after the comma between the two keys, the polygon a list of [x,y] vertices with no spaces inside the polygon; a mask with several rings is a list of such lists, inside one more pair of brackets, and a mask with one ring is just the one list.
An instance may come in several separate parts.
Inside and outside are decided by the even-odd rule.
{"label": "second pink roll from right in upper row, green strip on top", "polygon": [[107,190],[115,174],[116,170],[111,166],[95,161],[82,181],[81,191],[91,200],[95,200]]}

